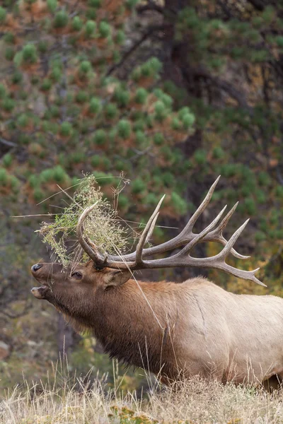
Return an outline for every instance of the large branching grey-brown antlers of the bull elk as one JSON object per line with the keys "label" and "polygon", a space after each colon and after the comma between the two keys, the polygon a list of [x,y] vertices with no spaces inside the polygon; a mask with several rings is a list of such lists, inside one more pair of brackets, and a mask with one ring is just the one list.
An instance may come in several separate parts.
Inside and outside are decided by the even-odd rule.
{"label": "large branching grey-brown antlers of the bull elk", "polygon": [[[217,182],[219,181],[220,176],[216,179],[212,187],[209,189],[207,196],[202,201],[202,204],[197,208],[197,211],[192,215],[189,222],[185,226],[185,228],[180,232],[179,235],[174,237],[172,240],[168,240],[168,242],[162,243],[161,245],[157,245],[154,247],[149,247],[144,249],[144,245],[151,237],[151,234],[154,230],[154,226],[156,224],[156,220],[158,218],[159,209],[161,207],[162,199],[158,202],[154,213],[149,218],[144,231],[141,234],[139,242],[137,244],[137,249],[135,252],[130,254],[125,254],[121,256],[115,255],[104,255],[100,254],[96,245],[94,245],[88,237],[83,235],[83,221],[86,219],[88,214],[92,211],[92,209],[96,206],[89,206],[85,211],[81,214],[78,225],[76,227],[76,234],[78,240],[81,244],[81,247],[85,250],[88,256],[96,263],[97,266],[108,266],[109,268],[114,269],[158,269],[158,268],[173,268],[177,266],[197,266],[200,268],[214,268],[221,269],[221,271],[225,271],[226,273],[230,273],[233,276],[238,278],[243,278],[244,280],[254,281],[260,285],[265,285],[258,278],[255,277],[256,271],[244,271],[241,269],[236,269],[233,266],[226,264],[226,257],[228,257],[231,252],[235,257],[240,259],[247,259],[248,257],[243,256],[236,252],[233,249],[233,245],[236,243],[236,240],[241,235],[241,232],[246,227],[248,220],[246,220],[243,225],[241,225],[236,232],[232,235],[231,239],[227,241],[222,232],[224,228],[226,228],[227,223],[229,222],[233,212],[235,211],[238,202],[236,203],[231,211],[224,216],[224,218],[219,223],[221,216],[223,215],[226,206],[219,212],[219,214],[214,218],[211,224],[204,228],[200,234],[195,234],[192,232],[192,228],[195,225],[197,218],[202,214],[204,209],[209,204],[210,199],[212,198],[212,194],[216,187]],[[218,225],[217,225],[218,224]],[[217,225],[217,226],[216,226]],[[216,228],[214,228],[216,227]],[[213,257],[207,258],[194,258],[190,256],[190,252],[192,249],[200,242],[219,242],[221,245],[224,245],[224,249],[221,250],[219,254],[216,254]],[[153,254],[168,252],[169,250],[176,249],[177,247],[184,246],[180,252],[174,254],[171,257],[162,258],[162,259],[151,259],[144,260],[145,257],[149,257]]]}

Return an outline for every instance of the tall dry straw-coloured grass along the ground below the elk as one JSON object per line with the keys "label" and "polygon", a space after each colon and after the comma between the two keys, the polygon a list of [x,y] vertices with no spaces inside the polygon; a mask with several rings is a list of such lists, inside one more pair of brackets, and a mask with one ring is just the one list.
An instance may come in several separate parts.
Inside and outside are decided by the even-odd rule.
{"label": "tall dry straw-coloured grass along the ground below the elk", "polygon": [[262,388],[194,378],[171,388],[151,382],[151,392],[138,399],[119,387],[106,389],[105,379],[93,379],[90,387],[86,378],[70,379],[65,369],[56,368],[54,376],[52,383],[24,381],[7,392],[0,399],[0,423],[283,423],[282,389],[270,394]]}

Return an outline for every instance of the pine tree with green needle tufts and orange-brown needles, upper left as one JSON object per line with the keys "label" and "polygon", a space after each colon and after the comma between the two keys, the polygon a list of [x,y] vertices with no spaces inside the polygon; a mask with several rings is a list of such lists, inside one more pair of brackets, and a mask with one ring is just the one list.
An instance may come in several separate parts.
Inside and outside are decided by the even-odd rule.
{"label": "pine tree with green needle tufts and orange-brown needles, upper left", "polygon": [[136,3],[21,0],[1,7],[0,134],[14,149],[2,160],[0,191],[9,201],[24,196],[37,204],[58,185],[77,184],[82,171],[110,194],[124,172],[132,180],[119,200],[124,213],[133,203],[148,211],[163,192],[164,214],[185,212],[183,187],[169,168],[180,163],[176,144],[192,134],[194,114],[175,111],[158,87],[156,57],[137,64],[127,80],[109,71],[121,60]]}

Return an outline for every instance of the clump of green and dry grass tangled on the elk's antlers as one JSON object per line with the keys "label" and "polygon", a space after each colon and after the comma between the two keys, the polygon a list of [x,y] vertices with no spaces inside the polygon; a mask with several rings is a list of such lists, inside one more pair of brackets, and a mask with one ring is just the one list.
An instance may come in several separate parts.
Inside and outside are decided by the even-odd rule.
{"label": "clump of green and dry grass tangled on the elk's antlers", "polygon": [[[121,179],[125,185],[125,180]],[[121,184],[121,186],[123,185]],[[64,192],[67,194],[66,192]],[[117,197],[120,189],[113,190]],[[55,216],[52,223],[43,222],[38,231],[43,237],[43,242],[50,245],[59,262],[68,266],[70,262],[85,262],[89,257],[82,252],[74,235],[79,216],[93,204],[95,208],[89,213],[84,223],[84,234],[91,240],[95,240],[100,252],[120,254],[125,251],[127,245],[127,232],[120,220],[117,219],[117,210],[103,197],[96,178],[88,175],[81,180],[79,188],[71,197],[69,206],[62,213]]]}

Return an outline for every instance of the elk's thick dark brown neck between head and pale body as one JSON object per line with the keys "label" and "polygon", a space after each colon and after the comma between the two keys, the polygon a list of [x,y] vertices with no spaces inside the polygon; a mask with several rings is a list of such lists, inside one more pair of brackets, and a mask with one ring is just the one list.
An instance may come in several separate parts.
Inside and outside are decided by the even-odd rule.
{"label": "elk's thick dark brown neck between head and pale body", "polygon": [[177,286],[129,280],[119,287],[98,290],[89,324],[105,352],[127,365],[155,373],[162,369],[163,374],[172,375]]}

